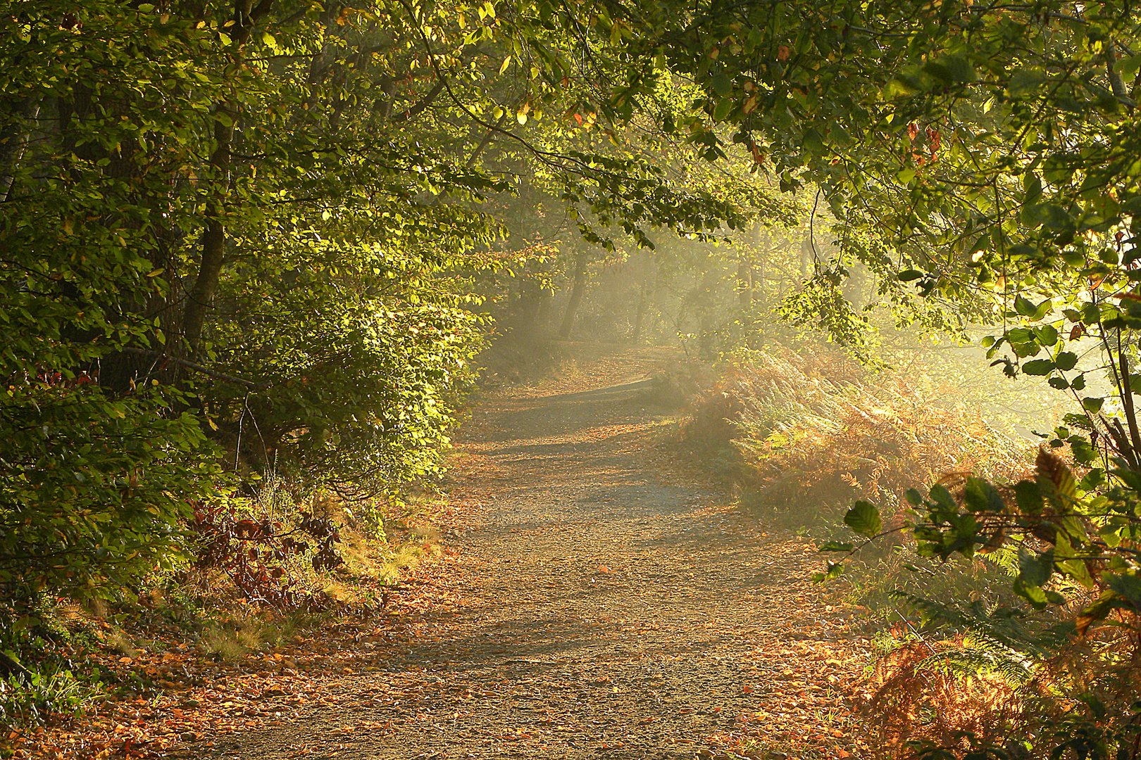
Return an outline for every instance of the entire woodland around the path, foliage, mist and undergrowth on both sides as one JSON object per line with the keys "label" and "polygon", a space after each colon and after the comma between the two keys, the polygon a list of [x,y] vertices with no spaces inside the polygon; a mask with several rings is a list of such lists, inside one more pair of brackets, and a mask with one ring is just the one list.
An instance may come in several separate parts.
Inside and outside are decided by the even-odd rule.
{"label": "entire woodland around the path, foliage, mist and undergrowth on both sides", "polygon": [[891,571],[884,752],[1136,757],[1139,23],[3,3],[0,719],[111,688],[75,616],[382,605],[479,369],[590,340],[685,358],[681,435],[819,507],[822,580]]}

